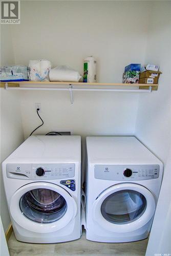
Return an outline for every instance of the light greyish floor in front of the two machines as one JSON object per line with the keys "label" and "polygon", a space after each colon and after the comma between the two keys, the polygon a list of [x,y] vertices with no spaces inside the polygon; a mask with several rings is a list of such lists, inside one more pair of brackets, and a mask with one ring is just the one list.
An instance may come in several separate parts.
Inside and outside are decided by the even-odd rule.
{"label": "light greyish floor in front of the two machines", "polygon": [[18,242],[14,233],[8,241],[10,256],[58,256],[58,255],[145,255],[148,240],[132,243],[97,243],[86,240],[85,232],[79,240],[59,244],[28,244]]}

